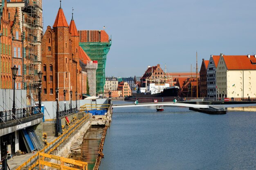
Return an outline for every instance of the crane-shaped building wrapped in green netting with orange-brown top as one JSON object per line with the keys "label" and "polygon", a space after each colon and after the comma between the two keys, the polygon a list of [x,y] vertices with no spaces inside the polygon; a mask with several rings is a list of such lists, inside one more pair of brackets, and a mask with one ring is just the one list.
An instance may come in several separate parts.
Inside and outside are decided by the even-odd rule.
{"label": "crane-shaped building wrapped in green netting with orange-brown top", "polygon": [[78,31],[78,33],[80,37],[79,45],[91,60],[98,61],[96,92],[98,95],[104,94],[106,59],[110,50],[111,39],[109,39],[108,34],[104,30],[82,30]]}

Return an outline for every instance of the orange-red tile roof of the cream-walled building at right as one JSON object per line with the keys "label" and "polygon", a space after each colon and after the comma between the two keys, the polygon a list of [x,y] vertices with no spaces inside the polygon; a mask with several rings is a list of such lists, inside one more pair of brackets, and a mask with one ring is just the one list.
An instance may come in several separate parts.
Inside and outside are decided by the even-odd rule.
{"label": "orange-red tile roof of the cream-walled building at right", "polygon": [[223,55],[228,70],[256,70],[256,59],[253,55]]}

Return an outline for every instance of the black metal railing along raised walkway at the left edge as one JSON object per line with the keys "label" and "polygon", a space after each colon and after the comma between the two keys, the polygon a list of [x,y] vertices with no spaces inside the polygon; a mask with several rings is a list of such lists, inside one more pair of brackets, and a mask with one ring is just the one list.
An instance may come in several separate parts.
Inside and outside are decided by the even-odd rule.
{"label": "black metal railing along raised walkway at the left edge", "polygon": [[15,114],[13,114],[13,110],[0,111],[0,123],[31,117],[36,114],[40,114],[38,106],[16,109]]}

